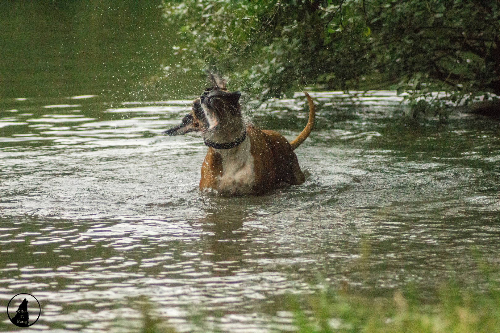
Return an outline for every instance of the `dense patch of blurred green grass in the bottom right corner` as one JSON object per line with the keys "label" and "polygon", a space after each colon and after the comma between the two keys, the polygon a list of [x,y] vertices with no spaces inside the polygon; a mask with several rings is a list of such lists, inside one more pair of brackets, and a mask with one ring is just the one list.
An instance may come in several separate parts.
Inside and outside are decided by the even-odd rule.
{"label": "dense patch of blurred green grass in the bottom right corner", "polygon": [[366,298],[347,293],[318,292],[309,309],[294,311],[299,333],[467,333],[500,332],[500,293],[466,293],[452,285],[441,289],[437,304],[411,296]]}

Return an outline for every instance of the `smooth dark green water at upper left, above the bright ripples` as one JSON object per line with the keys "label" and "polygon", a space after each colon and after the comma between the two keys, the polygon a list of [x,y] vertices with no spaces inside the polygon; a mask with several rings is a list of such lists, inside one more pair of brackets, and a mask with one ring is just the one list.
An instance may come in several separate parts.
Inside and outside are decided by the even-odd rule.
{"label": "smooth dark green water at upper left, above the bright ripples", "polygon": [[140,94],[169,56],[159,4],[1,1],[0,98]]}

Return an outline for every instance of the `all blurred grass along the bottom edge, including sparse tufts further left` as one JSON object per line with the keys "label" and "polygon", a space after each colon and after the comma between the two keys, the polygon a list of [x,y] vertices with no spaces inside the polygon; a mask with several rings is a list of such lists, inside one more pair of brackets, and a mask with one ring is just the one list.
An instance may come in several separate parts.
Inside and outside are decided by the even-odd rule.
{"label": "all blurred grass along the bottom edge, including sparse tufts further left", "polygon": [[[500,333],[500,288],[498,272],[476,256],[476,264],[487,283],[486,291],[465,291],[448,283],[438,291],[438,302],[419,301],[414,286],[393,297],[366,297],[347,291],[323,288],[313,295],[280,298],[276,308],[293,313],[293,331],[276,324],[273,332],[297,333]],[[143,302],[142,304],[146,304]],[[271,310],[272,312],[273,310]],[[143,314],[144,333],[175,331],[161,320],[152,320],[151,308]],[[191,316],[191,332],[220,332],[207,325],[199,314]],[[211,327],[212,329],[208,329]],[[198,328],[198,329],[195,329]],[[215,330],[213,329],[215,328]],[[289,328],[289,326],[288,326]]]}

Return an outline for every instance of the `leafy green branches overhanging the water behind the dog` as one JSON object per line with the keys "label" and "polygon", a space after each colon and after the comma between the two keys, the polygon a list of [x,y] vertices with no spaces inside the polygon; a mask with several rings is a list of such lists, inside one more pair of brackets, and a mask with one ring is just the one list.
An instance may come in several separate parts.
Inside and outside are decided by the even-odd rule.
{"label": "leafy green branches overhanging the water behind the dog", "polygon": [[204,81],[202,69],[216,68],[260,100],[291,96],[297,84],[397,89],[414,116],[445,117],[450,106],[500,95],[500,0],[184,0],[162,9],[177,36],[166,76],[194,70]]}

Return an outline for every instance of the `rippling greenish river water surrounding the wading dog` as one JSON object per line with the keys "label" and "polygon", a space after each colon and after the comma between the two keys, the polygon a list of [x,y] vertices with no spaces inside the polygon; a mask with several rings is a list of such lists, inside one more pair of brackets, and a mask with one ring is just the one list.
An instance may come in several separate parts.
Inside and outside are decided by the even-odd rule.
{"label": "rippling greenish river water surrounding the wading dog", "polygon": [[[44,26],[67,28],[57,10],[83,18],[121,10],[134,26],[162,25],[155,6],[5,3],[2,25],[26,24],[19,40]],[[132,33],[127,20],[106,24]],[[62,30],[47,34],[50,45],[82,33]],[[483,286],[474,251],[498,264],[498,121],[456,110],[444,125],[413,122],[393,91],[311,91],[316,127],[295,150],[306,182],[218,197],[197,188],[201,138],[161,134],[194,96],[141,93],[164,61],[161,38],[125,40],[138,60],[123,65],[130,53],[106,53],[113,36],[72,64],[58,63],[53,47],[26,50],[32,63],[16,60],[13,46],[1,51],[10,60],[0,71],[0,300],[35,296],[41,315],[32,329],[134,331],[137,300],[146,297],[179,332],[198,314],[224,332],[268,332],[289,328],[287,295],[318,284],[390,296],[411,283],[432,301],[450,279]],[[109,81],[119,70],[123,79]],[[251,121],[289,140],[306,122],[302,93],[247,105]],[[17,330],[8,320],[0,329]]]}

